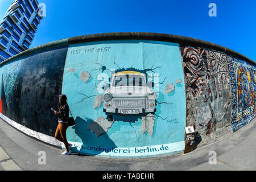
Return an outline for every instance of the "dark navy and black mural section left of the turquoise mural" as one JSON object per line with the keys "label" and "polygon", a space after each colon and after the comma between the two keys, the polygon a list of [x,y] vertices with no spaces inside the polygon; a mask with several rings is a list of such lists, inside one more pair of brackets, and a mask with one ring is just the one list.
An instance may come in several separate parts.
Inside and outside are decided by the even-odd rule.
{"label": "dark navy and black mural section left of the turquoise mural", "polygon": [[48,49],[0,67],[0,112],[38,133],[54,137],[67,47]]}

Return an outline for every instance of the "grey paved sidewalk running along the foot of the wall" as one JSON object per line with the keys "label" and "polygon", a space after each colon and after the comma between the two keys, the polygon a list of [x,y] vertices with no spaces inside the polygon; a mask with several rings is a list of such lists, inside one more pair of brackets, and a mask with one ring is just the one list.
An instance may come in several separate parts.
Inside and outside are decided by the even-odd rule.
{"label": "grey paved sidewalk running along the foot of the wall", "polygon": [[[97,171],[166,171],[166,170],[255,170],[256,123],[251,121],[232,135],[188,154],[173,154],[146,159],[107,159],[72,154],[34,140],[0,119],[1,170],[97,170]],[[39,165],[39,151],[46,152],[46,164]],[[209,164],[209,152],[217,154],[217,164]]]}

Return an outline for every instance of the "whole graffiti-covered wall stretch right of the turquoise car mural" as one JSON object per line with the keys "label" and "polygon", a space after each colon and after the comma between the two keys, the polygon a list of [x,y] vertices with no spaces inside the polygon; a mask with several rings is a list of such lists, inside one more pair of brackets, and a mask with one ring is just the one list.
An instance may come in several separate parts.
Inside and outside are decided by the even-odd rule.
{"label": "whole graffiti-covered wall stretch right of the turquoise car mural", "polygon": [[[187,126],[200,135],[255,117],[255,66],[202,47],[180,46],[187,99]],[[231,119],[230,119],[231,118]]]}

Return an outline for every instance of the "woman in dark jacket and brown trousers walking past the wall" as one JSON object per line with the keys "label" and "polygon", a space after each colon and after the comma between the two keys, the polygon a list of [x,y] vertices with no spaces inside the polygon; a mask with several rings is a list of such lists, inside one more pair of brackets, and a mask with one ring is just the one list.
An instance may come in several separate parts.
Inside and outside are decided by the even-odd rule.
{"label": "woman in dark jacket and brown trousers walking past the wall", "polygon": [[53,113],[58,116],[58,122],[59,122],[59,125],[57,126],[57,129],[55,131],[55,138],[65,144],[66,150],[61,154],[70,155],[71,153],[69,152],[69,149],[71,148],[72,144],[68,143],[68,140],[66,137],[66,130],[68,129],[68,115],[69,115],[67,96],[64,94],[60,95],[59,101],[60,101],[59,112],[57,112],[56,110],[53,110]]}

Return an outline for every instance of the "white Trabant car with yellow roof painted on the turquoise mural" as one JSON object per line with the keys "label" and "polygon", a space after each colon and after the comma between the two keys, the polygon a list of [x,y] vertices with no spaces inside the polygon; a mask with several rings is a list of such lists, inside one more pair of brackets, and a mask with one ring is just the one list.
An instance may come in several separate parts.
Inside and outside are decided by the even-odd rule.
{"label": "white Trabant car with yellow roof painted on the turquoise mural", "polygon": [[144,73],[118,72],[110,80],[110,86],[103,96],[104,112],[108,115],[108,121],[113,121],[113,115],[129,117],[156,111],[156,94],[147,86]]}

